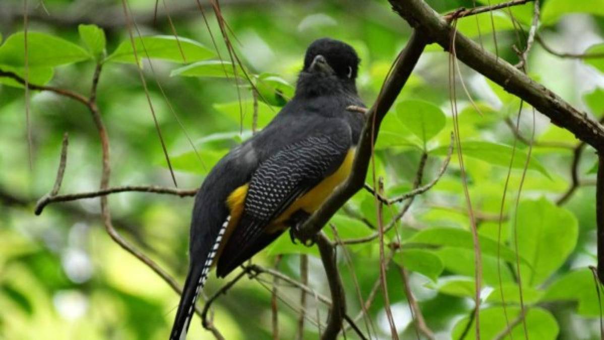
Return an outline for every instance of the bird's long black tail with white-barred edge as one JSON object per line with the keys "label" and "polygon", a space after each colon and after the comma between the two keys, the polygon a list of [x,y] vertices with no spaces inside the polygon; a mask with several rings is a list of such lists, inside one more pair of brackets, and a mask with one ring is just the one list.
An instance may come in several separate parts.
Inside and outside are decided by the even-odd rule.
{"label": "bird's long black tail with white-barred edge", "polygon": [[187,279],[185,280],[184,289],[182,289],[181,302],[178,304],[178,310],[176,311],[176,318],[174,319],[174,325],[172,326],[172,332],[170,333],[170,340],[185,340],[187,338],[187,330],[193,317],[195,309],[195,302],[199,296],[199,292],[204,287],[205,280],[208,278],[208,272],[214,262],[214,257],[222,242],[222,237],[225,234],[226,227],[228,226],[231,216],[226,217],[222,227],[218,232],[216,241],[212,248],[207,251],[207,258],[205,263],[194,263],[191,259],[189,266],[189,272]]}

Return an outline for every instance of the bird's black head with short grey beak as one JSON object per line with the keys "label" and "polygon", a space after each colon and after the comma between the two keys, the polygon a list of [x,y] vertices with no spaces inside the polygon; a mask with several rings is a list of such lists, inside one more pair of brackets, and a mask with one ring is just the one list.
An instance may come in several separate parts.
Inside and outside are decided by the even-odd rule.
{"label": "bird's black head with short grey beak", "polygon": [[355,80],[360,61],[355,49],[347,43],[329,38],[315,40],[306,50],[297,94],[356,94]]}

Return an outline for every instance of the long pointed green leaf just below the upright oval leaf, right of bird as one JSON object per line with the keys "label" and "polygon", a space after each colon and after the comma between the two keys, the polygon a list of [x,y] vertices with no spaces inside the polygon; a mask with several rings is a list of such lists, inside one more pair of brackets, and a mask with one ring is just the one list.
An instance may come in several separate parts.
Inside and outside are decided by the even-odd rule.
{"label": "long pointed green leaf just below the upright oval leaf, right of bird", "polygon": [[[431,150],[431,153],[435,155],[446,155],[446,146],[437,147]],[[524,150],[516,148],[513,150],[512,147],[504,144],[495,144],[484,141],[463,141],[461,142],[461,150],[463,155],[475,159],[480,159],[484,162],[489,162],[493,165],[499,165],[501,167],[509,167],[510,159],[512,159],[512,152],[514,153],[514,160],[512,162],[512,168],[524,169],[524,162],[527,159],[527,153]],[[455,149],[457,152],[457,149]],[[529,170],[536,170],[542,173],[547,178],[550,178],[549,173],[545,170],[545,167],[535,158],[531,157],[528,162]]]}

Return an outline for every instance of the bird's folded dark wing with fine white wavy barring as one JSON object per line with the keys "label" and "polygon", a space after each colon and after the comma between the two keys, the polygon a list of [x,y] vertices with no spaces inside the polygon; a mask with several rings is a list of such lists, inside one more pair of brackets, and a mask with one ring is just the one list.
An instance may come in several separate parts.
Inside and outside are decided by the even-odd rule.
{"label": "bird's folded dark wing with fine white wavy barring", "polygon": [[217,275],[228,274],[276,239],[265,228],[298,197],[331,175],[351,147],[350,128],[313,135],[285,147],[260,164],[249,182],[243,216],[218,260]]}

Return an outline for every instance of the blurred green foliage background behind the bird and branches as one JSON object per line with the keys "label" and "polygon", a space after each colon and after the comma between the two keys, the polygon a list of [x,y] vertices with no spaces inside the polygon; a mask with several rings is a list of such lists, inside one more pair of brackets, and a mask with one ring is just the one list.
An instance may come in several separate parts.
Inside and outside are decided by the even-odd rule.
{"label": "blurred green foliage background behind the bird and branches", "polygon": [[[165,4],[159,1],[156,22],[153,1],[128,1],[143,36],[173,36],[165,16],[166,7],[169,8],[182,44],[189,44],[185,48],[190,50],[185,50],[185,54],[198,57],[182,60],[174,43],[160,43],[151,62],[144,59],[141,63],[181,188],[198,187],[220,156],[251,135],[253,97],[249,86],[245,80],[226,79],[221,72],[215,72],[216,68],[208,66],[212,63],[207,60],[219,60],[219,56],[228,60],[228,53],[213,11],[207,2],[201,2],[215,45],[194,0],[166,0]],[[473,5],[471,0],[427,2],[440,13]],[[477,2],[487,4],[487,0]],[[496,2],[501,1],[491,1]],[[37,57],[42,65],[33,68],[30,77],[39,76],[40,82],[50,80],[49,85],[88,95],[95,54],[83,41],[79,24],[97,24],[104,30],[104,56],[111,56],[121,43],[126,44],[122,45],[126,49],[123,60],[109,57],[104,61],[98,86],[98,106],[111,141],[111,185],[173,186],[146,94],[134,59],[127,51],[129,36],[121,1],[30,0],[27,6],[28,31],[33,39],[30,60]],[[291,97],[304,51],[314,39],[329,36],[356,48],[362,59],[358,89],[369,106],[411,33],[408,24],[390,10],[385,0],[223,0],[221,7],[243,66],[254,75],[257,84],[268,86],[259,102],[259,127],[268,123]],[[19,43],[22,47],[22,35],[20,38],[19,34],[13,34],[23,30],[23,13],[22,1],[4,0],[0,4],[3,42],[0,69],[23,70],[22,54],[7,47]],[[461,19],[458,27],[485,49],[493,52],[496,49],[502,59],[515,64],[518,57],[512,45],[525,47],[533,4],[515,7],[512,13],[513,21],[509,10],[500,10],[492,16],[487,13]],[[602,52],[602,16],[602,0],[541,1],[538,35],[555,51]],[[496,31],[496,45],[492,27]],[[70,44],[62,50],[48,36],[36,38],[36,32]],[[136,31],[134,34],[138,35]],[[13,42],[9,43],[10,39]],[[65,52],[79,51],[74,44],[85,51],[83,57],[78,59],[77,53]],[[68,58],[54,63],[53,56],[62,52],[69,54]],[[98,59],[103,58],[101,52]],[[561,58],[535,43],[528,54],[527,72],[592,118],[599,119],[604,114],[603,60]],[[375,172],[384,176],[385,193],[389,197],[411,189],[423,152],[429,155],[425,183],[434,178],[445,158],[452,131],[448,71],[448,54],[435,45],[429,46],[382,126]],[[506,120],[515,123],[520,101],[461,64],[459,73],[476,103],[476,106],[470,103],[457,75],[460,137],[484,247],[483,338],[495,338],[506,327],[500,298],[502,288],[510,321],[519,312],[519,280],[513,261],[515,239],[522,263],[529,337],[599,338],[600,306],[593,277],[587,269],[596,265],[594,150],[590,147],[583,150],[577,172],[579,187],[568,200],[559,202],[571,186],[573,150],[579,141],[537,113],[534,126],[538,142],[532,148],[518,199],[529,148],[526,143],[515,141]],[[5,78],[0,78],[0,82],[4,83],[0,84],[0,339],[167,338],[178,296],[147,266],[112,242],[101,223],[98,198],[51,204],[40,216],[33,214],[36,200],[53,187],[65,132],[69,134],[69,151],[60,193],[98,188],[101,149],[90,113],[85,106],[68,98],[30,91],[30,167],[25,91]],[[275,94],[274,89],[279,92]],[[431,135],[416,133],[426,126],[433,132]],[[530,139],[532,127],[532,109],[524,104],[521,135]],[[512,258],[502,256],[498,260],[498,216],[512,153],[515,161],[501,223],[501,244],[508,248]],[[187,270],[192,204],[191,197],[151,193],[109,196],[118,231],[179,282],[184,280]],[[375,207],[373,197],[366,191],[353,197],[347,210],[332,220],[339,237],[350,239],[372,234],[373,230],[360,217],[376,225]],[[400,207],[402,204],[385,208],[385,223]],[[408,244],[407,248],[403,244],[403,251],[394,256],[387,276],[400,338],[416,339],[417,335],[399,265],[410,270],[411,290],[437,338],[457,339],[463,333],[474,308],[474,257],[467,246],[470,233],[466,211],[460,168],[454,156],[445,176],[432,190],[417,197],[400,225],[386,235],[387,242],[400,238],[400,242]],[[277,255],[284,254],[278,269],[298,279],[300,253],[309,254],[309,285],[329,296],[316,248],[293,246],[284,237],[253,260],[272,267]],[[352,260],[352,267],[345,253]],[[379,277],[378,243],[346,246],[345,250],[339,248],[338,254],[348,313],[356,316],[360,304],[355,282],[366,299]],[[498,263],[502,271],[501,287]],[[225,282],[211,275],[205,292],[211,295]],[[226,339],[272,338],[271,288],[272,277],[268,275],[261,275],[259,280],[243,278],[216,301],[214,324]],[[278,290],[280,338],[293,339],[300,292],[284,283],[278,284]],[[318,313],[316,309],[314,298],[307,297],[307,317],[312,320],[306,321],[306,339],[318,338],[317,316],[324,327],[327,309],[321,304]],[[381,292],[378,291],[369,312],[370,330],[363,319],[358,321],[359,327],[373,339],[390,338]],[[524,338],[522,322],[513,328],[512,335]],[[211,338],[197,317],[191,325],[190,338]],[[355,339],[356,335],[349,331],[346,338]],[[472,338],[471,328],[466,339]]]}

